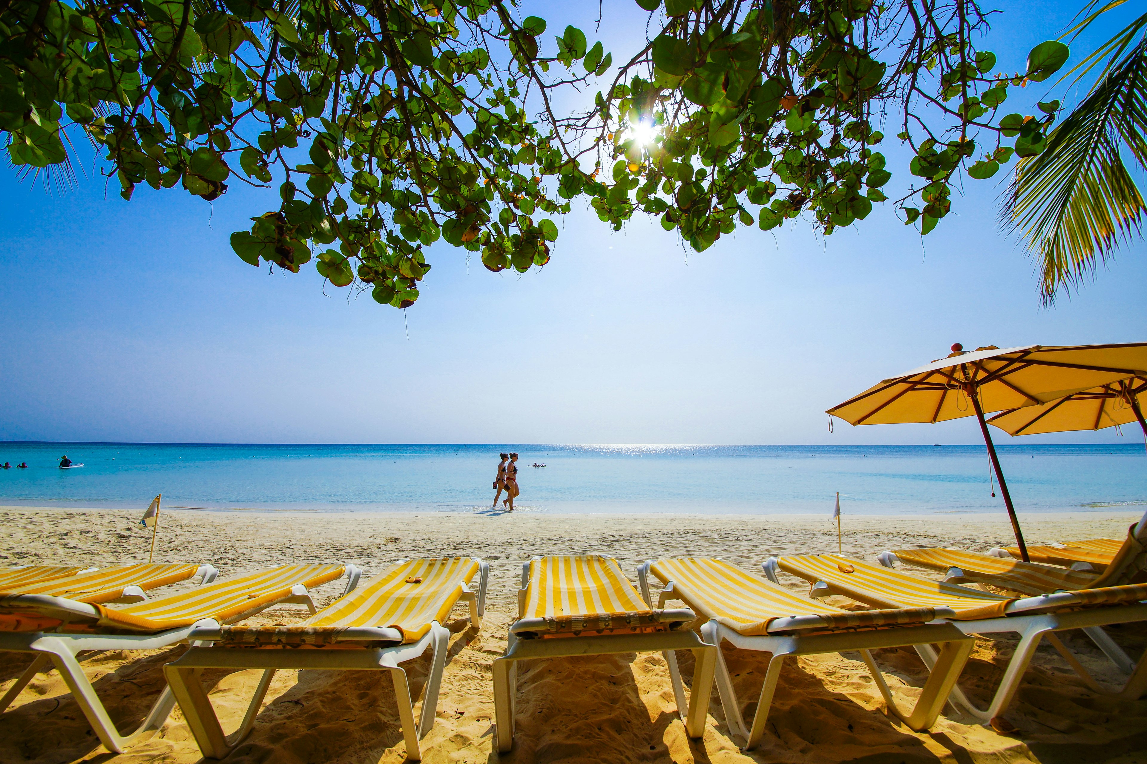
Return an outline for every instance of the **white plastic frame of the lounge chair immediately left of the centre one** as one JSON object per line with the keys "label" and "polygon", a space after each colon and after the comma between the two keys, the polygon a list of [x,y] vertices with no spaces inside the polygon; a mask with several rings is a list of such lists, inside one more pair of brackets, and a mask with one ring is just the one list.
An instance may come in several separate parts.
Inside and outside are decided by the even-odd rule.
{"label": "white plastic frame of the lounge chair immediately left of the centre one", "polygon": [[[470,624],[482,627],[485,614],[486,583],[490,577],[490,565],[474,558],[478,562],[478,589],[474,591],[466,582],[459,601],[465,601],[470,608]],[[399,560],[398,565],[407,560]],[[223,758],[237,747],[255,726],[263,699],[271,687],[271,680],[279,669],[325,669],[337,671],[390,671],[395,684],[395,698],[398,702],[398,718],[406,743],[406,757],[411,761],[422,759],[419,741],[434,728],[438,710],[438,692],[442,687],[442,676],[446,668],[446,654],[450,648],[450,629],[437,621],[430,622],[430,630],[416,643],[403,644],[403,633],[397,629],[376,627],[352,627],[338,635],[338,643],[396,643],[391,646],[364,646],[360,649],[291,649],[282,646],[268,647],[218,647],[205,646],[218,640],[220,628],[216,622],[203,623],[195,629],[193,646],[178,660],[163,667],[167,685],[174,693],[179,707],[187,719],[200,750],[206,758]],[[411,685],[401,663],[413,661],[432,648],[430,674],[427,676],[426,691],[422,696],[422,711],[418,724],[414,723],[414,703],[411,699]],[[225,734],[219,724],[219,717],[208,699],[200,682],[203,669],[263,669],[263,677],[251,696],[243,715],[243,722],[232,734]]]}

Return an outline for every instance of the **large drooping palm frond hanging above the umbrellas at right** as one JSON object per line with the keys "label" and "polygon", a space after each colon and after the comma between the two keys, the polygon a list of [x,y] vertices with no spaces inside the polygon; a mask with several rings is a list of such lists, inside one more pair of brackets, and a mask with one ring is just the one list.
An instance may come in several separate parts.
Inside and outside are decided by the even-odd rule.
{"label": "large drooping palm frond hanging above the umbrellas at right", "polygon": [[1092,88],[1022,159],[1001,211],[1039,261],[1045,302],[1094,275],[1121,241],[1140,233],[1144,198],[1123,162],[1147,165],[1147,40]]}

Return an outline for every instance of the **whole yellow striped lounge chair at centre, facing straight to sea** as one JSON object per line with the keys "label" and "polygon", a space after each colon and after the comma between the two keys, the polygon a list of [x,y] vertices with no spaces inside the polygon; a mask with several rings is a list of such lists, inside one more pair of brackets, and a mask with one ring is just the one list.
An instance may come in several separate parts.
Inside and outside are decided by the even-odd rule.
{"label": "whole yellow striped lounge chair at centre, facing straight to sea", "polygon": [[[614,558],[535,557],[522,566],[517,616],[505,654],[493,663],[500,753],[514,747],[517,662],[539,657],[662,651],[686,733],[704,734],[717,648],[687,628],[696,619],[693,611],[654,609],[643,602]],[[689,700],[677,670],[677,649],[692,649],[696,657]]]}

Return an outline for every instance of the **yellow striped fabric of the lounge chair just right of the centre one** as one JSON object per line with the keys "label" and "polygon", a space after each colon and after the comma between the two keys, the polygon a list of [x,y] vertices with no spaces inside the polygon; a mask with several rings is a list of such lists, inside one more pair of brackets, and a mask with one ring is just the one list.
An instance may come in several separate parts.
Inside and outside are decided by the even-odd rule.
{"label": "yellow striped fabric of the lounge chair just right of the centre one", "polygon": [[747,637],[766,635],[777,619],[798,615],[820,616],[825,628],[834,630],[927,623],[936,617],[933,608],[845,611],[712,558],[654,560],[649,570],[662,584],[672,582],[673,594],[693,612]]}

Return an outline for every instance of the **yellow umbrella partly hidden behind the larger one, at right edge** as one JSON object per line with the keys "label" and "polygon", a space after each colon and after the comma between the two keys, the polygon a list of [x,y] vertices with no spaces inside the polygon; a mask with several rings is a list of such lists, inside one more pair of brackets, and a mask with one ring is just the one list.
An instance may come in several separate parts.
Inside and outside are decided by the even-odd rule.
{"label": "yellow umbrella partly hidden behind the larger one, at right edge", "polygon": [[1139,422],[1147,435],[1142,409],[1147,405],[1147,377],[1128,377],[1044,403],[1002,411],[988,420],[1009,435],[1103,430]]}

